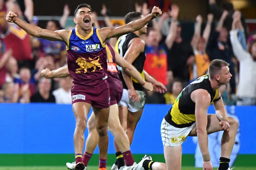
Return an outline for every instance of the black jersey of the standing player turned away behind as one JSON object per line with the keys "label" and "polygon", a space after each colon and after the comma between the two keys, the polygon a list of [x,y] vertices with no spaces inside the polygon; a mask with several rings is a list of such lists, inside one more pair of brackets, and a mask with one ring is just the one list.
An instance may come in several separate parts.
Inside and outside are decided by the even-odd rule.
{"label": "black jersey of the standing player turned away behind", "polygon": [[[116,43],[116,50],[119,52],[119,54],[122,57],[124,57],[124,54],[128,50],[129,42],[132,40],[132,38],[139,38],[139,37],[135,33],[129,33],[126,35],[122,35],[121,37],[118,38],[118,41]],[[146,52],[145,52],[145,48],[144,48],[144,51],[142,53],[140,53],[139,56],[132,63],[132,65],[138,70],[138,72],[140,73],[140,75],[143,77],[144,80],[145,80],[145,76],[144,76],[144,72],[143,72],[143,67],[144,67],[145,60],[146,60]],[[122,68],[118,67],[118,69],[120,71],[119,77],[122,80],[123,88],[128,89],[127,85],[124,82],[123,75],[121,73]],[[143,91],[144,88],[133,77],[132,77],[132,83],[133,83],[133,87],[135,90]]]}

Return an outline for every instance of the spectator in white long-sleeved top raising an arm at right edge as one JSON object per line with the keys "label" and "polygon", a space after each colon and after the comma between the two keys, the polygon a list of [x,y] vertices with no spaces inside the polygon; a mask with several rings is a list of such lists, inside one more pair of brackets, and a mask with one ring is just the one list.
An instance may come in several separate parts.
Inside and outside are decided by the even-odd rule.
{"label": "spectator in white long-sleeved top raising an arm at right edge", "polygon": [[239,60],[239,82],[237,88],[237,105],[255,105],[256,103],[256,41],[252,41],[248,51],[244,50],[239,43],[237,36],[237,25],[241,22],[241,13],[239,11],[233,14],[232,30],[230,31],[230,41],[233,46],[233,52]]}

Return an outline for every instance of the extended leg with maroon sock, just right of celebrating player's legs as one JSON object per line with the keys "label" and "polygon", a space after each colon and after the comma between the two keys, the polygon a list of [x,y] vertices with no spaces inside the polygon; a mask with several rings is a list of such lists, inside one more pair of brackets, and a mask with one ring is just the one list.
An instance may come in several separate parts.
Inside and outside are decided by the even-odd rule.
{"label": "extended leg with maroon sock, just right of celebrating player's legs", "polygon": [[134,163],[134,159],[130,151],[130,143],[129,143],[128,136],[125,133],[124,129],[121,127],[121,124],[118,118],[117,104],[113,104],[110,106],[110,115],[108,118],[108,129],[113,134],[116,144],[118,145],[118,148],[121,150],[121,153],[125,160],[125,165],[132,166]]}

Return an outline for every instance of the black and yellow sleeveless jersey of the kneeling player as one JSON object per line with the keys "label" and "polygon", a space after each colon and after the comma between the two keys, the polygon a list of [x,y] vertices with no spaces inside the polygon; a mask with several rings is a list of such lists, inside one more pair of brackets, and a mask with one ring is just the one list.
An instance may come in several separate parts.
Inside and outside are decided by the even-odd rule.
{"label": "black and yellow sleeveless jersey of the kneeling player", "polygon": [[[195,122],[195,103],[191,100],[191,93],[197,89],[205,89],[211,95],[211,103],[217,98],[218,89],[213,91],[208,75],[203,75],[191,82],[178,95],[165,120],[174,127],[189,127]],[[211,104],[210,103],[210,104]]]}

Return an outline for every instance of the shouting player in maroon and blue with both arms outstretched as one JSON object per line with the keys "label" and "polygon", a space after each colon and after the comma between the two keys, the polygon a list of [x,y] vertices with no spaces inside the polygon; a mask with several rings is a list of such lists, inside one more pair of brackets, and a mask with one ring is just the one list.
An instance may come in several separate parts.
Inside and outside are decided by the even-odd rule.
{"label": "shouting player in maroon and blue with both arms outstretched", "polygon": [[[109,86],[107,78],[107,55],[105,41],[111,37],[118,37],[139,30],[148,22],[162,14],[161,9],[154,7],[145,17],[132,21],[121,27],[92,27],[92,12],[88,4],[80,4],[74,13],[73,21],[76,28],[72,31],[50,31],[20,20],[10,11],[6,15],[8,22],[14,22],[30,35],[52,41],[63,41],[67,45],[68,70],[73,78],[72,108],[76,118],[74,132],[75,170],[84,170],[82,160],[84,146],[84,131],[87,115],[92,107],[99,135],[99,169],[106,169],[108,152],[108,116],[110,106]],[[124,156],[132,158],[131,151],[127,150]],[[134,164],[123,169],[132,169]]]}

